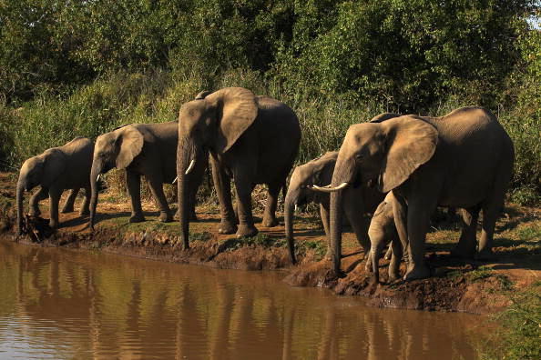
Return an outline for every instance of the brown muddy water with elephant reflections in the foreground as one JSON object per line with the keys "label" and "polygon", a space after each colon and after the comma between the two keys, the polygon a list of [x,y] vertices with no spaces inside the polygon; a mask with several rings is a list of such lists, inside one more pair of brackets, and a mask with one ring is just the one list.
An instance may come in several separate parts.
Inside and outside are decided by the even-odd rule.
{"label": "brown muddy water with elephant reflections in the foreground", "polygon": [[0,241],[0,358],[475,358],[481,316],[369,308],[284,275]]}

